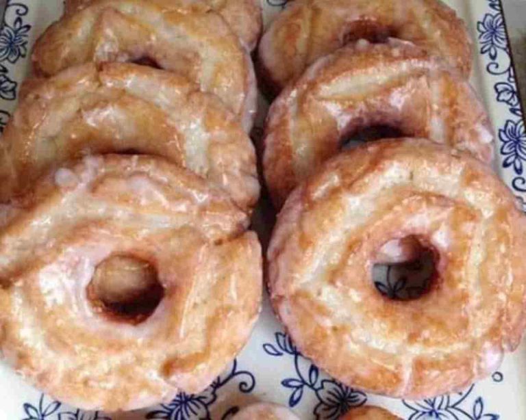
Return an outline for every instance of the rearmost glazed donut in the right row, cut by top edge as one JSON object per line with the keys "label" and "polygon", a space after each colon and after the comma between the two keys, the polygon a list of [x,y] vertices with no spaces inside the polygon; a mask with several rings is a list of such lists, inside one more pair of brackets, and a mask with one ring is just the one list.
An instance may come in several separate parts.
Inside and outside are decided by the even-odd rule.
{"label": "rearmost glazed donut in the right row, cut by top edge", "polygon": [[318,58],[347,42],[400,38],[439,55],[464,77],[471,73],[466,25],[440,0],[295,0],[264,33],[262,76],[279,92]]}

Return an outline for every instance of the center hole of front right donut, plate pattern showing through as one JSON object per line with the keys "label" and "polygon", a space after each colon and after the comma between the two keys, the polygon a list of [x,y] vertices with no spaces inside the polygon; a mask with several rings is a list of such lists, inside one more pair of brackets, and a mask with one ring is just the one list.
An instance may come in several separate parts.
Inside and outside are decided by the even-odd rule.
{"label": "center hole of front right donut, plate pattern showing through", "polygon": [[391,300],[416,300],[436,278],[437,253],[418,237],[388,241],[377,252],[373,282]]}

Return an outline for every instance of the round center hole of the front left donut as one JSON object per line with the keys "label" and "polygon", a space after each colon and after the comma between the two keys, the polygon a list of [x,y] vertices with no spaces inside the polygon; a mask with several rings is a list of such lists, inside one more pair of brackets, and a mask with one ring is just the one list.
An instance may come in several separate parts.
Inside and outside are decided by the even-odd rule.
{"label": "round center hole of the front left donut", "polygon": [[97,265],[87,294],[101,315],[140,324],[155,311],[164,297],[164,289],[149,262],[117,255]]}

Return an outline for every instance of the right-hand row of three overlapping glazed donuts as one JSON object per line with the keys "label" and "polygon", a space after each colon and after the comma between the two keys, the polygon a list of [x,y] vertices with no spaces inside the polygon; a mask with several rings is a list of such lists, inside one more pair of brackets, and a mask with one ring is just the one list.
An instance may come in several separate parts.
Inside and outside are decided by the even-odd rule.
{"label": "right-hand row of three overlapping glazed donuts", "polygon": [[[492,171],[471,57],[439,0],[295,0],[262,36],[277,94],[262,159],[281,210],[271,302],[299,351],[349,386],[460,391],[521,341],[526,220]],[[379,293],[375,265],[425,252],[421,296]]]}

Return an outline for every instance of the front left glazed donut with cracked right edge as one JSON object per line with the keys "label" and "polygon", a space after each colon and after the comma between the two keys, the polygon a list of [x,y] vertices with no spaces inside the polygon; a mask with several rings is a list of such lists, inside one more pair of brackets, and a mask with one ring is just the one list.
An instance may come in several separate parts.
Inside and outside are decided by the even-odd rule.
{"label": "front left glazed donut with cracked right edge", "polygon": [[249,339],[258,239],[192,172],[160,157],[86,157],[13,205],[0,231],[0,348],[56,399],[116,411],[197,393]]}

